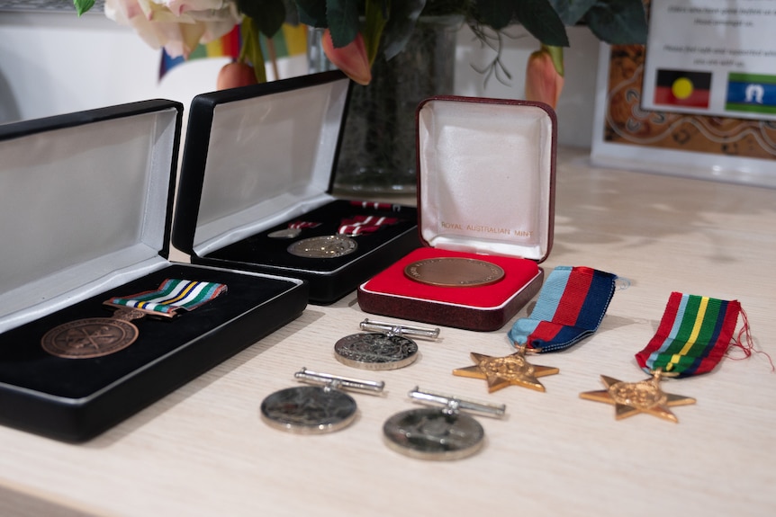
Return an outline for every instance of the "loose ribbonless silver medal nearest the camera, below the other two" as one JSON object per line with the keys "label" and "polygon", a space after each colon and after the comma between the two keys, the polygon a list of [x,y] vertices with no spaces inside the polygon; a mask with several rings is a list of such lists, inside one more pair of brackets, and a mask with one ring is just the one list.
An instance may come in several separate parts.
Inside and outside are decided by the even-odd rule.
{"label": "loose ribbonless silver medal nearest the camera, below the other two", "polygon": [[462,411],[501,417],[506,406],[413,389],[409,396],[443,408],[425,407],[394,414],[383,424],[388,447],[417,459],[462,459],[482,449],[483,426]]}

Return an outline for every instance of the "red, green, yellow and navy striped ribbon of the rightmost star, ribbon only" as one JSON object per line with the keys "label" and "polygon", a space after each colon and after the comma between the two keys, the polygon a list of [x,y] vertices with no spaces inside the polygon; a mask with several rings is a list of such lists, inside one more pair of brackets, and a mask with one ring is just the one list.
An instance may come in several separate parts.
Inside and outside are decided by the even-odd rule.
{"label": "red, green, yellow and navy striped ribbon of the rightmost star, ribbon only", "polygon": [[735,343],[741,305],[704,296],[673,292],[654,337],[636,353],[645,371],[661,369],[670,377],[690,377],[717,366]]}

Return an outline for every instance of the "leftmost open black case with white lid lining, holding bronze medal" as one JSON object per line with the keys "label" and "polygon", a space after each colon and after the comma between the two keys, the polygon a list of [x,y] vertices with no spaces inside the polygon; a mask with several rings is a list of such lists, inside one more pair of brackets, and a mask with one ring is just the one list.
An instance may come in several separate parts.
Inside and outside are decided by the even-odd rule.
{"label": "leftmost open black case with white lid lining, holding bronze medal", "polygon": [[[306,307],[297,279],[169,261],[182,111],[156,100],[0,126],[0,423],[86,441]],[[59,325],[111,318],[104,301],[167,279],[227,289],[179,316],[132,321],[137,338],[116,352],[44,349]],[[113,332],[73,325],[59,337],[76,348]]]}

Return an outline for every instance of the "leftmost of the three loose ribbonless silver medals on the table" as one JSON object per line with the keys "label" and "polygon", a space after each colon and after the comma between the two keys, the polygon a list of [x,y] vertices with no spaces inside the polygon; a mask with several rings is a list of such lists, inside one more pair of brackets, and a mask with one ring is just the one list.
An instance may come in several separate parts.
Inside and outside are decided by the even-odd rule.
{"label": "leftmost of the three loose ribbonless silver medals on the table", "polygon": [[349,379],[302,368],[294,377],[318,386],[275,391],[261,403],[261,417],[271,427],[287,432],[319,434],[347,427],[356,418],[356,400],[342,389],[381,393],[383,382]]}

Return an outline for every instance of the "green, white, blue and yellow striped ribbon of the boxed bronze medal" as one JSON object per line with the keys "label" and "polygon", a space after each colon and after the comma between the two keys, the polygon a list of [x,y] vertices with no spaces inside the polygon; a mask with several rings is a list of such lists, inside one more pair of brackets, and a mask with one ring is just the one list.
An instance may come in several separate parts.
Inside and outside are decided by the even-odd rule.
{"label": "green, white, blue and yellow striped ribbon of the boxed bronze medal", "polygon": [[167,279],[158,290],[148,290],[108,300],[108,304],[137,308],[152,313],[175,315],[178,310],[194,310],[226,291],[226,285],[209,281]]}

